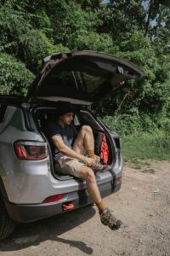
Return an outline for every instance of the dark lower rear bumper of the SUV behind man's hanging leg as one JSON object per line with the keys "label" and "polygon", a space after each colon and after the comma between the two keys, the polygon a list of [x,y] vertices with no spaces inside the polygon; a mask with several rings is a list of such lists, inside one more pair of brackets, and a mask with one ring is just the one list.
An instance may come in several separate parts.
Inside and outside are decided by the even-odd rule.
{"label": "dark lower rear bumper of the SUV behind man's hanging leg", "polygon": [[[99,191],[101,196],[104,198],[107,195],[111,195],[113,192],[118,191],[121,188],[121,183],[113,185],[113,183],[108,182],[99,185]],[[14,221],[21,223],[28,223],[41,218],[48,218],[63,212],[68,212],[71,210],[64,210],[63,204],[71,202],[74,205],[74,209],[86,206],[93,203],[93,200],[88,195],[85,189],[71,192],[65,195],[64,199],[45,204],[22,204],[16,205],[6,202],[6,207],[8,215]]]}

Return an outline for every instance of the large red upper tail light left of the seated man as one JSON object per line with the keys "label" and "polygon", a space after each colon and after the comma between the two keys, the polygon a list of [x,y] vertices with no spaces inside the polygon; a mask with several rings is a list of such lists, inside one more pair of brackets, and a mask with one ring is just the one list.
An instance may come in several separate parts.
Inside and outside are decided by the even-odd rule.
{"label": "large red upper tail light left of the seated man", "polygon": [[42,160],[48,156],[46,143],[17,142],[14,143],[14,151],[21,160]]}

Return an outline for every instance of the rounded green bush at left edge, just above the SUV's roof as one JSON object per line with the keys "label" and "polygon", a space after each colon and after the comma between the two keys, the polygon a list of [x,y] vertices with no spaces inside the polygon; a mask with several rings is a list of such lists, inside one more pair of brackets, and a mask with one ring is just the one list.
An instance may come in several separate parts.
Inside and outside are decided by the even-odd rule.
{"label": "rounded green bush at left edge, just above the SUV's roof", "polygon": [[12,55],[0,54],[0,94],[26,96],[34,75]]}

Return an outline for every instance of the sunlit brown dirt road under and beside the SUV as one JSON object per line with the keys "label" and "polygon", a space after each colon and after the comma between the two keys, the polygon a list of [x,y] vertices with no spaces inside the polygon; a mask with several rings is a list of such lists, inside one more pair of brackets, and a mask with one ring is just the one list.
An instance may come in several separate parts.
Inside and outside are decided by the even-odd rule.
{"label": "sunlit brown dirt road under and beside the SUV", "polygon": [[0,255],[170,256],[169,184],[170,162],[126,165],[122,189],[105,198],[122,219],[121,230],[100,224],[95,206],[84,207],[20,225],[13,236],[0,242]]}

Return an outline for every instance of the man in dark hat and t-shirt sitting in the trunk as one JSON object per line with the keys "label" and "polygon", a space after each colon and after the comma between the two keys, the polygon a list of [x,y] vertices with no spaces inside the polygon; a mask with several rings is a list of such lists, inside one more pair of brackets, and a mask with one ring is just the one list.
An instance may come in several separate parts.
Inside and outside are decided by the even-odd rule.
{"label": "man in dark hat and t-shirt sitting in the trunk", "polygon": [[[99,156],[94,154],[94,135],[90,126],[82,125],[77,132],[72,124],[74,110],[70,102],[58,102],[56,122],[44,126],[43,131],[52,144],[52,152],[56,166],[60,172],[81,177],[87,183],[89,195],[99,209],[101,222],[111,230],[118,230],[122,221],[116,219],[105,206],[99,193],[95,172],[105,172],[111,166],[101,165]],[[57,167],[56,167],[57,168]]]}

